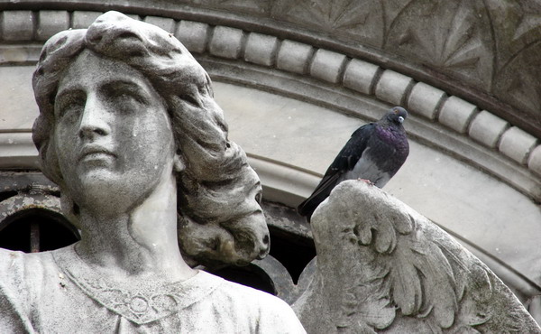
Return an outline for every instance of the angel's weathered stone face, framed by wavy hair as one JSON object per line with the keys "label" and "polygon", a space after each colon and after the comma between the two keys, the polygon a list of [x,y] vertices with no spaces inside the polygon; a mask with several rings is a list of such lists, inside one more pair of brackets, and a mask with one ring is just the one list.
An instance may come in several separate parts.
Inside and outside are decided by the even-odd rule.
{"label": "angel's weathered stone face, framed by wavy hair", "polygon": [[121,61],[83,51],[60,80],[54,115],[64,187],[79,205],[132,207],[164,169],[171,172],[166,108],[150,82]]}

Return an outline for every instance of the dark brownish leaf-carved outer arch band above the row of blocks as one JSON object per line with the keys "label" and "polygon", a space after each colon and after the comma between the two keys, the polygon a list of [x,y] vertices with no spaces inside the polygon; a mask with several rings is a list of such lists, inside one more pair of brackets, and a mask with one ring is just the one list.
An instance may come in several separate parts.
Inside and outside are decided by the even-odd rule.
{"label": "dark brownish leaf-carved outer arch band above the row of blocks", "polygon": [[[541,51],[541,4],[537,0],[161,0],[152,5],[146,0],[122,4],[52,0],[46,5],[52,12],[119,10],[305,42],[406,73],[489,109],[537,137],[541,134],[536,107],[541,98],[541,83],[536,79],[541,68],[536,57]],[[0,1],[0,10],[27,9],[45,7],[35,0]],[[82,22],[52,14],[55,24],[78,26]],[[14,22],[24,28],[24,20]],[[44,39],[54,24],[46,21],[41,25],[35,33],[23,29],[16,34]],[[11,33],[9,27],[4,31],[5,35]]]}

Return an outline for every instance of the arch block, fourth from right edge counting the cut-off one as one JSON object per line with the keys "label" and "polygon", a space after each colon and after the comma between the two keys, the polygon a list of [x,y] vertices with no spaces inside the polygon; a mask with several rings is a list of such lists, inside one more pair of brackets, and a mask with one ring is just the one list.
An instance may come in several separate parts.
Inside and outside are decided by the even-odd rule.
{"label": "arch block, fourth from right edge counting the cut-off one", "polygon": [[471,103],[464,101],[462,98],[449,97],[445,100],[438,119],[442,124],[463,134],[467,131],[468,125],[470,125],[476,112],[477,107]]}

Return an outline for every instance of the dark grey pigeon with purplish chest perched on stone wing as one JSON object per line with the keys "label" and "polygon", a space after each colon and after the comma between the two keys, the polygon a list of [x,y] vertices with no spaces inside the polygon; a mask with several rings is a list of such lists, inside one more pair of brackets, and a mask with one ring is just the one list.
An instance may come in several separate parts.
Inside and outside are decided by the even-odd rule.
{"label": "dark grey pigeon with purplish chest perched on stone wing", "polygon": [[312,213],[331,190],[344,180],[361,179],[382,188],[399,171],[409,154],[404,120],[408,111],[392,107],[375,123],[359,127],[327,169],[316,190],[298,206],[310,221]]}

